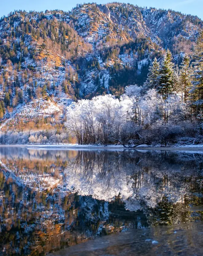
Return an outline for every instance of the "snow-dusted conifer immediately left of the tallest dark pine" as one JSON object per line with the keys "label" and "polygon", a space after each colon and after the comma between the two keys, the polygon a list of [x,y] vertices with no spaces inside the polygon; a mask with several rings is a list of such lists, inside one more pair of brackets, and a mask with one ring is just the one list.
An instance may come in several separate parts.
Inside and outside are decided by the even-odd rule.
{"label": "snow-dusted conifer immediately left of the tallest dark pine", "polygon": [[155,58],[152,66],[149,68],[149,73],[147,75],[147,81],[145,82],[146,89],[156,88],[158,85],[158,76],[159,76],[159,62]]}

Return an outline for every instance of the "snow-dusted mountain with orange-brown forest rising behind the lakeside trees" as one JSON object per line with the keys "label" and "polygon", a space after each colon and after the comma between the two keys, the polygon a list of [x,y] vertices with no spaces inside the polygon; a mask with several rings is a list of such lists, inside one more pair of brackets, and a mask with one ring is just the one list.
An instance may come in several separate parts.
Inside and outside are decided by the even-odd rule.
{"label": "snow-dusted mountain with orange-brown forest rising behind the lakeside trees", "polygon": [[63,123],[72,100],[142,85],[167,48],[179,64],[202,26],[197,16],[115,2],[11,12],[0,20],[0,118]]}

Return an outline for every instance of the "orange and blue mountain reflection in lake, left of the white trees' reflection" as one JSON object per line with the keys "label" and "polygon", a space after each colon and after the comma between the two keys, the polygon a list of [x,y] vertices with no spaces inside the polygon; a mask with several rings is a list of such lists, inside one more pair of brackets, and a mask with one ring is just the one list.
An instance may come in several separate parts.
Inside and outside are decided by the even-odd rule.
{"label": "orange and blue mountain reflection in lake, left of the white trees' reflection", "polygon": [[1,256],[41,255],[92,236],[147,226],[143,212],[129,214],[119,199],[109,206],[104,200],[70,193],[63,187],[63,179],[53,187],[41,183],[43,175],[57,180],[56,170],[60,170],[59,176],[63,174],[64,166],[76,158],[76,152],[67,157],[69,153],[64,151],[39,150],[29,158],[30,152],[24,148],[0,151]]}

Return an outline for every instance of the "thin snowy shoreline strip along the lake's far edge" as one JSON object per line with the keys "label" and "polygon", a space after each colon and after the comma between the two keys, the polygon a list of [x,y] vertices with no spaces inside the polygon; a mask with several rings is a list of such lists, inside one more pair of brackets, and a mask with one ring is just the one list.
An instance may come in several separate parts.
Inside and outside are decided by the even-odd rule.
{"label": "thin snowy shoreline strip along the lake's far edge", "polygon": [[108,145],[108,146],[95,146],[95,145],[77,145],[77,144],[10,144],[0,145],[0,147],[25,147],[27,149],[69,149],[69,150],[157,150],[157,151],[203,151],[203,145],[183,146],[183,147],[160,147],[160,146],[138,146],[132,148],[125,148],[122,145]]}

